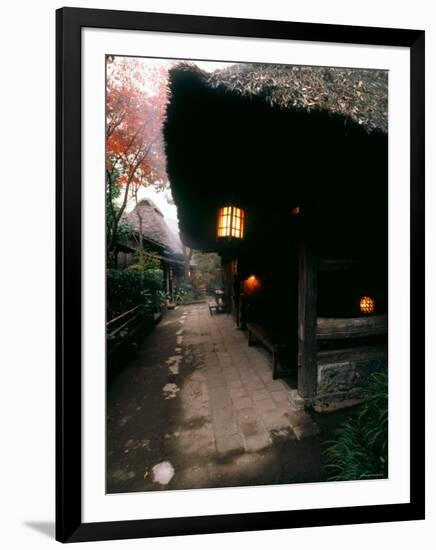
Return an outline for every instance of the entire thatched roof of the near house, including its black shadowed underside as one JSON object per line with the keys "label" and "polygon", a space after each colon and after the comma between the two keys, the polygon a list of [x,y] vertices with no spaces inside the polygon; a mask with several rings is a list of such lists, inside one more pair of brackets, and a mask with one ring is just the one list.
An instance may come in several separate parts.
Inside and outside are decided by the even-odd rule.
{"label": "entire thatched roof of the near house, including its black shadowed underside", "polygon": [[228,201],[247,211],[245,246],[285,238],[279,225],[297,205],[327,244],[352,246],[357,233],[372,244],[369,211],[372,233],[385,231],[386,71],[244,64],[206,73],[180,63],[169,91],[167,172],[187,246],[216,250]]}

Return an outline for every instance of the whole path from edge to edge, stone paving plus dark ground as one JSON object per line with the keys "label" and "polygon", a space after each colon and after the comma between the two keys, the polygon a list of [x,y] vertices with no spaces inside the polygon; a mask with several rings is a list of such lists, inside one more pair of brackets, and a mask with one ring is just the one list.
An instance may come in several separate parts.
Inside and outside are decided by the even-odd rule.
{"label": "whole path from edge to edge, stone paving plus dark ground", "polygon": [[325,479],[322,437],[248,347],[207,305],[168,312],[108,396],[108,491]]}

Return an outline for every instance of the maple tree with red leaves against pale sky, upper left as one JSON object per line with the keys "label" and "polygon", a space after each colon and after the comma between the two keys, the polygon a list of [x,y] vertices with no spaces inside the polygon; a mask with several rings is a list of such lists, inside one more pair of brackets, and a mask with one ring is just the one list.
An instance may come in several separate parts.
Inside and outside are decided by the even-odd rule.
{"label": "maple tree with red leaves against pale sky, upper left", "polygon": [[[106,179],[108,253],[130,196],[141,186],[167,185],[163,121],[169,64],[108,56],[106,62]],[[115,191],[115,193],[114,193]],[[115,205],[112,198],[118,197]]]}

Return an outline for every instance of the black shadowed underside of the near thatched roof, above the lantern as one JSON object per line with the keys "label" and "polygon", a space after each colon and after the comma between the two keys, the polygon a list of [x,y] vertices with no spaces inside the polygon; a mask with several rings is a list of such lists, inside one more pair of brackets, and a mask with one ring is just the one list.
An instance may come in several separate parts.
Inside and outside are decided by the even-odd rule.
{"label": "black shadowed underside of the near thatched roof, above the lantern", "polygon": [[188,246],[217,250],[217,210],[228,201],[246,209],[254,243],[279,238],[297,205],[326,239],[347,226],[363,237],[368,227],[357,229],[368,219],[370,233],[385,223],[383,132],[326,110],[283,109],[211,87],[198,71],[175,69],[170,87],[168,173]]}

